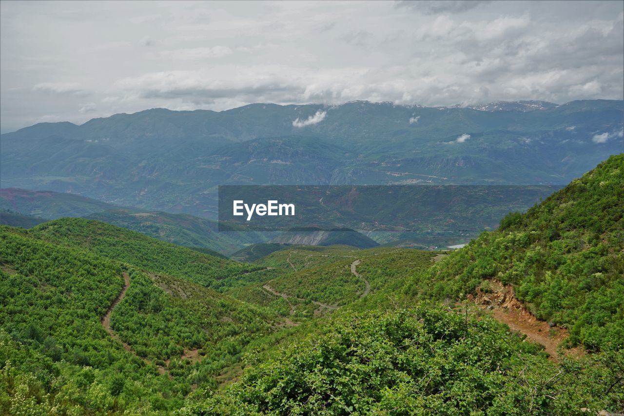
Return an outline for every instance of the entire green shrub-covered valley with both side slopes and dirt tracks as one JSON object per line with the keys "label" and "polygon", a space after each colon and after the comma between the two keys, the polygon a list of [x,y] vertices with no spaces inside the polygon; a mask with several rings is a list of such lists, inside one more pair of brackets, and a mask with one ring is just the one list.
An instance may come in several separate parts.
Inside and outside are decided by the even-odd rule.
{"label": "entire green shrub-covered valley with both side slopes and dirt tracks", "polygon": [[2,411],[381,412],[457,389],[466,411],[615,410],[623,174],[611,157],[449,252],[271,245],[240,263],[96,220],[2,225]]}

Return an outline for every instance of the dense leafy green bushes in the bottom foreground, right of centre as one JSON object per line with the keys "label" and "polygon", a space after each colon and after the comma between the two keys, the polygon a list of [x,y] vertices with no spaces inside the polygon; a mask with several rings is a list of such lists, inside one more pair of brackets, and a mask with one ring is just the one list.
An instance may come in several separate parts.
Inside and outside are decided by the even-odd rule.
{"label": "dense leafy green bushes in the bottom foreground, right of centre", "polygon": [[198,390],[180,413],[597,414],[623,399],[622,355],[556,365],[492,319],[431,306],[339,315],[250,362],[225,393]]}

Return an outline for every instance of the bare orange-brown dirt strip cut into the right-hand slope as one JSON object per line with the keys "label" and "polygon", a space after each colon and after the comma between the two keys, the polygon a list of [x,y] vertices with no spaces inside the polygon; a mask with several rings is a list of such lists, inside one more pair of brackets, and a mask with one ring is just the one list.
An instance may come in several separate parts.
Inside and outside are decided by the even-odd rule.
{"label": "bare orange-brown dirt strip cut into the right-hand slope", "polygon": [[[547,322],[537,319],[527,308],[516,299],[514,290],[509,285],[503,285],[498,280],[487,280],[486,291],[477,288],[477,295],[472,300],[482,309],[492,312],[496,320],[507,324],[510,329],[527,335],[533,342],[544,345],[550,359],[557,361],[557,347],[568,337],[568,331],[560,327],[551,327]],[[580,350],[573,349],[567,354],[580,354]]]}

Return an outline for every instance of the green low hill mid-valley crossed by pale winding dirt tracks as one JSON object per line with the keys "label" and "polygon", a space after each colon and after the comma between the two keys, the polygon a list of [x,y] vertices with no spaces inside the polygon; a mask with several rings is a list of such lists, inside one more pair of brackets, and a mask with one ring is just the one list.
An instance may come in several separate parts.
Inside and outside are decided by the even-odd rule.
{"label": "green low hill mid-valley crossed by pale winding dirt tracks", "polygon": [[427,269],[435,257],[412,249],[291,245],[254,262],[271,268],[270,279],[227,294],[296,322],[308,322],[338,309],[387,306],[405,279]]}

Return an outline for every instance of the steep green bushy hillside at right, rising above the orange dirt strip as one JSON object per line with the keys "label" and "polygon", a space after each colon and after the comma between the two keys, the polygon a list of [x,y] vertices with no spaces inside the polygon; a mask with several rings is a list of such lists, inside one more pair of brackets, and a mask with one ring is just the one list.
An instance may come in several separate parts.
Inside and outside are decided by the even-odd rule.
{"label": "steep green bushy hillside at right, rising above the orange dirt strip", "polygon": [[624,345],[624,154],[610,157],[526,214],[407,284],[419,299],[464,299],[500,280],[539,319],[588,350]]}

